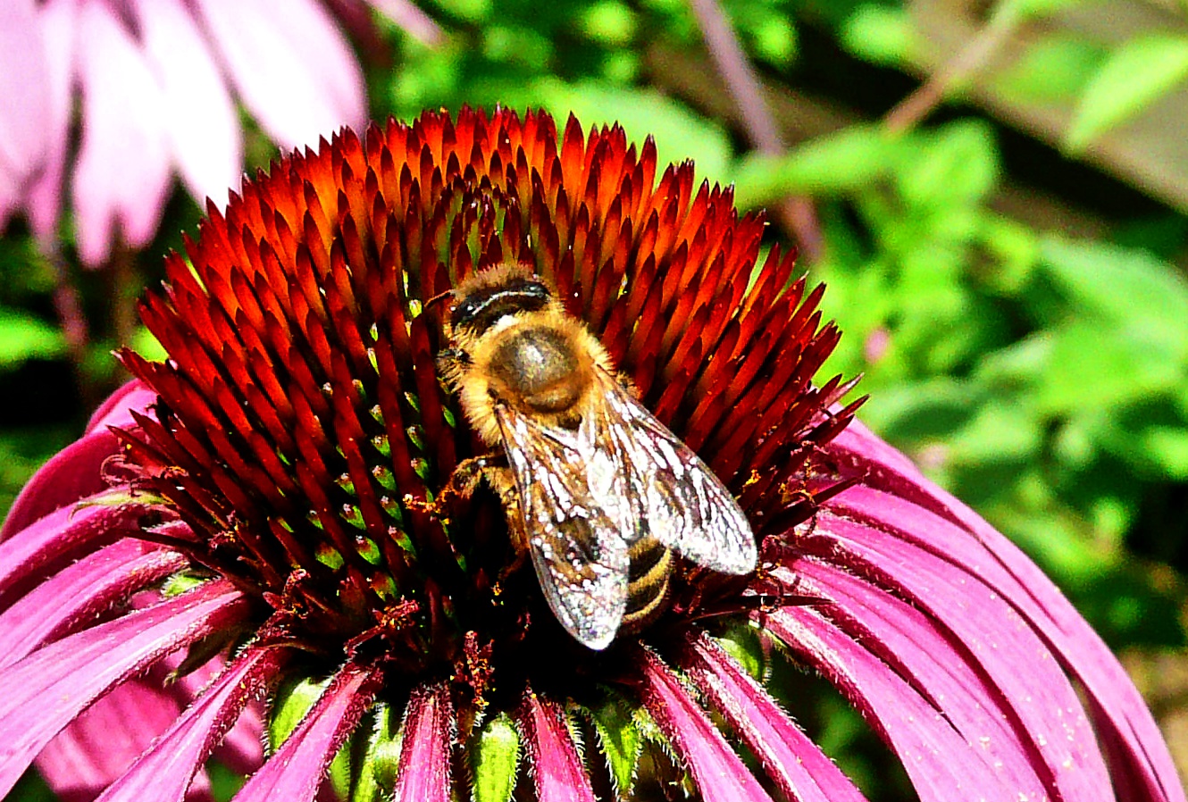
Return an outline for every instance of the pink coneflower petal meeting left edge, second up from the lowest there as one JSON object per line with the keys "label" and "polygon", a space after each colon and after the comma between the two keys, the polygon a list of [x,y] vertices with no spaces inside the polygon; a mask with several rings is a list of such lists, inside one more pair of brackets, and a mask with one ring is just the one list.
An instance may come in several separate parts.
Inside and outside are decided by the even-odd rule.
{"label": "pink coneflower petal meeting left edge, second up from the lowest there", "polygon": [[187,564],[176,551],[132,538],[87,555],[0,614],[0,668]]}

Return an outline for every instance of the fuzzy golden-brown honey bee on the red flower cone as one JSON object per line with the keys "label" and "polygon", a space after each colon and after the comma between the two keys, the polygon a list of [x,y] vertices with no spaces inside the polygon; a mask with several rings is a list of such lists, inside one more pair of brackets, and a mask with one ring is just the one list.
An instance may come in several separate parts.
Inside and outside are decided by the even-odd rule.
{"label": "fuzzy golden-brown honey bee on the red flower cone", "polygon": [[479,473],[570,634],[605,649],[620,626],[650,620],[674,551],[723,574],[754,570],[754,536],[729,491],[538,277],[504,264],[450,296],[440,368],[470,425],[506,457],[482,459]]}

